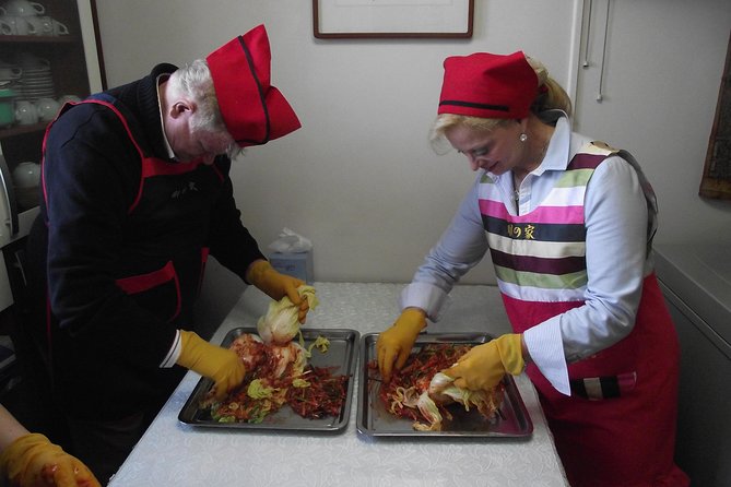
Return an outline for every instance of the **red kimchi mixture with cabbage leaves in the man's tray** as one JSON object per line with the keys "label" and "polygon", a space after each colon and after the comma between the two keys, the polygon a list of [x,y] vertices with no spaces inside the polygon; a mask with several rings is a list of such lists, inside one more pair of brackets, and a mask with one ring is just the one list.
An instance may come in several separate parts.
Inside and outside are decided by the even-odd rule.
{"label": "red kimchi mixture with cabbage leaves in the man's tray", "polygon": [[248,372],[241,385],[223,401],[213,401],[210,393],[203,400],[201,408],[209,409],[214,420],[261,423],[284,405],[304,418],[340,415],[349,376],[333,375],[334,367],[310,366],[310,351],[295,342],[284,346],[264,344],[252,334],[239,336],[231,348]]}

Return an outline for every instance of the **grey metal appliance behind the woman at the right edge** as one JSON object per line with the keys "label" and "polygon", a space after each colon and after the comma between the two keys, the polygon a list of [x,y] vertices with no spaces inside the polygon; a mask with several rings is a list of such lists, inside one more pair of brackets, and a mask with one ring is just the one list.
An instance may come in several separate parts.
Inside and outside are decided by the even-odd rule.
{"label": "grey metal appliance behind the woman at the right edge", "polygon": [[657,245],[681,344],[675,461],[692,485],[731,485],[731,242]]}

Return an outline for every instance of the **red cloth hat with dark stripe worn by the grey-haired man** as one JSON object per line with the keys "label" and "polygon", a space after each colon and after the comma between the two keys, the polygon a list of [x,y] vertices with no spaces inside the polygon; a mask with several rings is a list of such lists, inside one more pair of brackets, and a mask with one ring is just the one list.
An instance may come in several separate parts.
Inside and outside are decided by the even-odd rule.
{"label": "red cloth hat with dark stripe worn by the grey-haired man", "polygon": [[205,58],[223,121],[241,147],[266,144],[302,127],[282,93],[270,84],[271,59],[263,25]]}

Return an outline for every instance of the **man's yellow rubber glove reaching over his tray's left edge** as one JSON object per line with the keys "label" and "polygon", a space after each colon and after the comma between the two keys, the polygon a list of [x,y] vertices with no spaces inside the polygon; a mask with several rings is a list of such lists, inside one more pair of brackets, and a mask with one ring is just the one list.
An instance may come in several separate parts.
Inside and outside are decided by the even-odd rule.
{"label": "man's yellow rubber glove reaching over his tray's left edge", "polygon": [[236,352],[211,345],[194,332],[180,330],[180,338],[178,365],[213,379],[216,401],[244,381],[246,368]]}

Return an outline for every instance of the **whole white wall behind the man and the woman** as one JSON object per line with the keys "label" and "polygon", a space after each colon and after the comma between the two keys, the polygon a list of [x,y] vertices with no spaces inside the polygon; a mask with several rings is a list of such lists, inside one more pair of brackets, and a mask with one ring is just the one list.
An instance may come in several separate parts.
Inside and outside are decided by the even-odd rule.
{"label": "whole white wall behind the man and the woman", "polygon": [[[303,129],[248,150],[232,177],[262,247],[284,226],[313,239],[318,281],[411,278],[473,178],[464,159],[437,156],[426,141],[441,62],[481,50],[541,59],[578,95],[577,127],[637,156],[661,200],[659,240],[731,242],[731,206],[697,197],[731,26],[728,0],[614,0],[601,104],[591,98],[597,68],[578,68],[585,2],[475,3],[468,40],[318,40],[308,0],[97,0],[110,85],[157,62],[204,57],[267,25],[273,84]],[[592,25],[603,33],[603,20]],[[488,259],[465,282],[493,283]]]}

